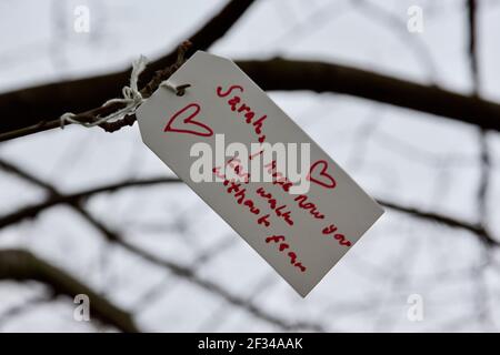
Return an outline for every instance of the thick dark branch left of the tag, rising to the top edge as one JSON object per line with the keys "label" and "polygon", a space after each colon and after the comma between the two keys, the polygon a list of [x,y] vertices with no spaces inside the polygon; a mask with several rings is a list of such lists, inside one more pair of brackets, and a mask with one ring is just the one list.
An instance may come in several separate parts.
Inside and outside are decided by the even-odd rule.
{"label": "thick dark branch left of the tag, rising to the top edge", "polygon": [[[192,51],[206,50],[222,38],[253,2],[254,0],[229,1],[190,37],[193,48],[188,51],[187,58]],[[147,89],[150,94],[156,88],[144,83],[159,83],[156,80],[157,72],[169,71],[171,64],[178,62],[177,59],[177,50],[173,50],[150,63],[141,74],[139,87]],[[92,120],[97,115],[104,116],[119,110],[121,104],[110,104],[106,108],[101,105],[111,98],[120,97],[121,88],[129,84],[130,71],[131,69],[127,69],[117,73],[0,94],[0,112],[4,118],[10,118],[3,120],[0,125],[0,141],[58,128],[58,118],[68,111],[80,112],[80,119]],[[132,125],[134,122],[134,119],[124,119],[122,124]],[[113,130],[114,126],[110,131]]]}

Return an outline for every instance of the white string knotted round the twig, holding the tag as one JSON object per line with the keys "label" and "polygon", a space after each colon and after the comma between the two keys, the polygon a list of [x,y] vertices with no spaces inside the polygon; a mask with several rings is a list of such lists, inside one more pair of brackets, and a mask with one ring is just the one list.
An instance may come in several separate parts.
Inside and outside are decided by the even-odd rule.
{"label": "white string knotted round the twig, holding the tag", "polygon": [[77,114],[67,112],[67,113],[62,114],[60,118],[61,129],[64,128],[64,124],[67,122],[77,123],[77,124],[84,125],[87,128],[91,128],[94,125],[99,125],[103,122],[116,120],[116,119],[119,119],[127,114],[136,112],[136,110],[139,108],[139,105],[144,101],[141,93],[139,92],[137,82],[139,80],[139,75],[146,69],[147,64],[148,64],[148,59],[144,55],[141,55],[139,59],[134,60],[132,63],[132,73],[130,74],[130,87],[123,87],[123,89],[121,91],[123,94],[123,98],[122,99],[111,99],[111,100],[108,100],[103,104],[103,106],[107,106],[112,103],[124,103],[126,105],[122,109],[120,109],[109,115],[106,115],[103,118],[100,118],[93,122],[80,122],[80,121],[73,119]]}

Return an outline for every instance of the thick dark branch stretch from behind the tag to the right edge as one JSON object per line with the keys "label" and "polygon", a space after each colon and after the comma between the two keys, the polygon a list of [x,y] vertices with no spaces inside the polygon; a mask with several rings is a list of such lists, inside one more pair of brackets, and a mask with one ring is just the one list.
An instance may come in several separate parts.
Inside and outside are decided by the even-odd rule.
{"label": "thick dark branch stretch from behind the tag to the right edge", "polygon": [[337,92],[500,131],[500,104],[333,63],[273,59],[238,64],[266,90]]}

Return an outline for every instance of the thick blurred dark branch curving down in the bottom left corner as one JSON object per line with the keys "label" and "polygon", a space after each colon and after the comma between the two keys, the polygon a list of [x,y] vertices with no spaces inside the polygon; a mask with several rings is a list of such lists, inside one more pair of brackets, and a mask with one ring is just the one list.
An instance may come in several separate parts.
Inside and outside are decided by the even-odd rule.
{"label": "thick blurred dark branch curving down in the bottom left corner", "polygon": [[0,278],[39,281],[49,285],[54,294],[67,295],[71,300],[78,294],[86,294],[91,302],[92,316],[122,332],[139,332],[129,313],[118,308],[89,286],[28,251],[1,250]]}

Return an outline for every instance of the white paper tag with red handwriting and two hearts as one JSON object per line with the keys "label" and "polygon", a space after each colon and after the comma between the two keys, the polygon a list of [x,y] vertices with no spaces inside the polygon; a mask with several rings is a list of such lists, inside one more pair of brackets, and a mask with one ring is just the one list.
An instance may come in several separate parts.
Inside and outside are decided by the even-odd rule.
{"label": "white paper tag with red handwriting and two hearts", "polygon": [[383,210],[232,61],[198,51],[169,83],[191,87],[140,106],[143,142],[306,296]]}

